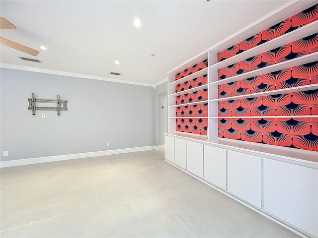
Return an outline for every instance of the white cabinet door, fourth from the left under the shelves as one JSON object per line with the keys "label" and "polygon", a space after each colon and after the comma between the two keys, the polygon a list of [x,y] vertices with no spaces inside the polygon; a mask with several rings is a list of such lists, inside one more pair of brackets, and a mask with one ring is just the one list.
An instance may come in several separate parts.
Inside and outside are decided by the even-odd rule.
{"label": "white cabinet door, fourth from the left under the shelves", "polygon": [[204,145],[203,179],[226,189],[227,150]]}

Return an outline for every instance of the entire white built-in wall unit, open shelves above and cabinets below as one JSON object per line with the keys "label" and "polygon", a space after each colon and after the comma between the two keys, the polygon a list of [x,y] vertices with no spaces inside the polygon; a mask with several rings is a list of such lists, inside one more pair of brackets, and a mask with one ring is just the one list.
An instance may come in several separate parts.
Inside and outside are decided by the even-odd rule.
{"label": "entire white built-in wall unit, open shelves above and cabinets below", "polygon": [[[294,102],[296,102],[293,100],[294,98],[298,97],[297,95],[299,92],[310,94],[310,91],[314,91],[314,97],[317,97],[317,76],[315,76],[315,79],[311,76],[312,78],[310,80],[306,79],[308,81],[303,81],[305,83],[300,84],[293,84],[291,83],[291,80],[288,82],[288,85],[279,85],[281,81],[277,80],[277,83],[276,81],[275,83],[268,83],[271,84],[268,87],[268,91],[262,91],[261,86],[263,86],[263,82],[264,84],[267,83],[265,81],[261,81],[262,85],[257,84],[257,87],[260,87],[260,92],[258,93],[255,93],[255,91],[258,89],[254,86],[244,91],[244,93],[247,93],[244,95],[239,95],[242,94],[242,90],[245,89],[243,86],[239,90],[236,88],[238,91],[232,90],[230,93],[228,91],[229,88],[232,87],[232,83],[238,82],[240,87],[241,85],[246,85],[247,79],[251,80],[250,78],[252,77],[260,76],[258,78],[263,80],[266,75],[268,76],[269,74],[275,74],[279,70],[287,69],[286,71],[290,70],[290,75],[294,75],[293,73],[299,65],[303,66],[304,64],[318,61],[318,52],[315,52],[317,50],[313,50],[311,52],[308,51],[305,53],[305,55],[299,55],[298,58],[291,59],[292,57],[290,57],[283,59],[286,61],[275,60],[275,62],[269,64],[269,66],[262,67],[262,65],[260,65],[260,68],[250,68],[249,71],[243,71],[241,74],[239,74],[239,72],[237,75],[235,75],[236,73],[233,73],[230,75],[230,77],[229,74],[224,74],[224,79],[220,79],[222,77],[219,78],[218,70],[228,67],[231,64],[238,63],[242,60],[252,58],[259,54],[262,54],[263,56],[265,55],[263,53],[316,34],[318,33],[318,20],[307,25],[301,25],[296,30],[289,32],[286,31],[288,33],[268,40],[263,44],[256,45],[249,50],[237,53],[237,55],[233,55],[232,57],[220,62],[218,62],[217,57],[218,53],[221,51],[224,51],[228,48],[231,49],[231,47],[238,44],[239,42],[258,34],[264,29],[274,26],[278,22],[284,21],[287,18],[291,19],[291,16],[294,16],[301,10],[305,10],[308,7],[315,5],[315,3],[317,2],[290,1],[274,12],[250,24],[248,27],[245,27],[238,33],[226,38],[205,52],[193,57],[192,59],[169,71],[167,84],[168,133],[165,135],[166,161],[172,163],[179,169],[186,171],[192,176],[209,183],[211,186],[215,187],[221,192],[231,196],[251,209],[296,232],[298,235],[310,238],[318,238],[318,152],[307,150],[305,146],[303,146],[304,149],[296,149],[301,148],[301,146],[296,147],[296,145],[294,145],[294,141],[297,143],[297,139],[298,141],[302,139],[300,136],[305,137],[305,134],[302,134],[302,132],[299,131],[306,130],[306,133],[309,134],[313,134],[314,132],[317,133],[317,129],[315,129],[315,131],[312,130],[314,126],[317,128],[318,124],[318,109],[314,110],[317,104],[316,100],[299,103],[301,106],[306,108],[304,113],[294,113],[292,110],[290,113],[282,113],[283,111],[279,110],[283,110],[280,107],[287,107],[288,105],[292,107]],[[291,46],[293,45],[294,43],[291,44]],[[175,75],[177,73],[206,59],[208,59],[207,68],[201,69],[188,76],[176,80]],[[221,71],[222,70],[220,70],[220,72]],[[176,92],[176,86],[180,88],[182,83],[188,82],[206,74],[208,75],[207,83],[190,89],[185,87],[183,91]],[[224,91],[223,89],[226,87],[227,91]],[[198,102],[186,102],[186,100],[184,100],[184,102],[181,103],[179,100],[180,98],[178,98],[178,101],[176,101],[176,97],[179,95],[191,94],[192,92],[204,89],[207,89],[207,99],[204,98],[201,99],[202,101],[198,100]],[[278,104],[268,106],[269,110],[273,110],[274,108],[274,113],[266,114],[263,112],[258,113],[258,111],[253,111],[258,107],[262,107],[262,109],[259,110],[264,110],[264,108],[267,107],[265,104],[263,105],[264,100],[277,98],[278,96],[268,96],[280,94],[286,94],[282,96],[286,96],[289,101],[288,103],[280,106],[275,106]],[[206,95],[204,97],[206,97]],[[260,100],[262,103],[261,106],[254,106],[250,108],[247,108],[248,106],[243,106],[248,105],[248,103],[245,102],[247,101],[246,99],[252,100],[252,98],[257,98],[257,100]],[[197,98],[195,98],[195,100],[197,100]],[[236,103],[232,102],[233,100],[239,101],[239,105],[242,105],[243,107],[241,108],[239,106],[239,108],[235,108],[236,110],[250,110],[250,113],[247,113],[247,115],[250,116],[246,116],[244,114],[244,116],[240,117],[237,116],[235,111],[232,111],[233,109],[228,109],[231,108],[231,105],[233,105],[232,103]],[[244,101],[244,104],[241,104],[242,101]],[[226,104],[227,109],[222,108]],[[191,107],[193,107],[193,109],[195,107],[196,109],[198,109],[198,107],[206,109],[207,107],[208,116],[189,117],[186,113],[189,113],[189,110],[192,110]],[[308,108],[310,108],[310,111]],[[220,109],[224,111],[220,111],[220,114],[218,114]],[[226,112],[225,110],[231,110],[231,114],[227,114],[227,116],[220,116],[223,112]],[[180,111],[187,116],[176,117],[176,115],[180,115]],[[297,116],[293,116],[295,114]],[[293,134],[294,132],[286,134],[286,138],[288,137],[286,141],[292,144],[283,144],[282,146],[277,146],[274,145],[274,143],[270,144],[270,142],[265,141],[266,136],[268,136],[269,133],[272,133],[274,130],[274,134],[279,134],[279,130],[282,131],[282,123],[287,123],[287,121],[290,121],[290,123],[294,123],[295,121],[301,122],[300,124],[302,128],[298,131],[294,131],[295,134]],[[182,132],[177,130],[180,128],[178,126],[180,126],[181,123],[182,125],[188,125],[187,122],[189,125],[198,125],[198,128],[194,128],[193,130],[187,129],[187,131],[184,130]],[[223,132],[225,137],[226,129],[222,128],[226,128],[228,126],[226,123],[230,123],[232,129],[232,124],[237,126],[233,128],[238,128],[238,125],[243,122],[248,124],[250,123],[250,130],[238,130],[239,137],[219,137],[223,136]],[[255,126],[257,123],[264,124],[267,122],[269,122],[271,125],[274,125],[275,128],[271,131],[256,131],[257,135],[255,137],[246,137],[247,139],[251,138],[246,141],[243,141],[244,138],[242,139],[242,137],[240,137],[243,133],[245,133],[244,136],[248,136],[247,133],[253,133],[253,123],[253,126]],[[286,125],[287,127],[289,126],[289,124]],[[202,133],[205,132],[205,130],[202,129],[203,126],[206,128],[207,134]],[[219,130],[221,133],[219,133]],[[232,130],[235,131],[236,129]],[[232,133],[233,131],[229,130],[228,132]],[[261,140],[257,139],[259,136],[261,136]],[[315,136],[317,136],[317,134],[315,134]],[[255,140],[257,141],[255,141],[254,138],[256,138]],[[268,139],[266,140],[268,141]],[[313,144],[315,143],[316,142],[313,142]],[[287,147],[290,145],[293,145],[295,148]],[[292,186],[289,184],[292,184]],[[306,194],[306,196],[304,196],[304,194]],[[293,213],[290,211],[293,211]]]}

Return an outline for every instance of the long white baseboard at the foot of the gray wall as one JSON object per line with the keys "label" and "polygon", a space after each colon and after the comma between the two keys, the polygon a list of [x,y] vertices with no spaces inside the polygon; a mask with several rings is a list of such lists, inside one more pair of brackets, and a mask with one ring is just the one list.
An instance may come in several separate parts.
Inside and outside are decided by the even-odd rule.
{"label": "long white baseboard at the foot of the gray wall", "polygon": [[86,157],[114,155],[114,154],[122,154],[122,153],[138,152],[138,151],[145,151],[145,150],[154,150],[154,149],[156,149],[156,146],[151,145],[151,146],[133,147],[133,148],[125,148],[125,149],[117,149],[117,150],[86,152],[86,153],[79,153],[79,154],[56,155],[56,156],[37,157],[37,158],[29,158],[29,159],[21,159],[21,160],[8,160],[8,161],[1,161],[0,168],[19,166],[19,165],[31,165],[31,164],[46,163],[46,162],[61,161],[61,160],[74,160],[74,159],[80,159],[80,158],[86,158]]}

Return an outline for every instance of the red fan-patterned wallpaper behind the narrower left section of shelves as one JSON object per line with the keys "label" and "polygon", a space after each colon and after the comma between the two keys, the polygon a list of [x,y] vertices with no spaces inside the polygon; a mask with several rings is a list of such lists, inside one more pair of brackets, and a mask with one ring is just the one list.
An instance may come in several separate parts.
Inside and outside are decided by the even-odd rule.
{"label": "red fan-patterned wallpaper behind the narrower left section of shelves", "polygon": [[[187,68],[175,75],[175,80],[186,77],[208,66],[208,60],[203,60],[190,68]],[[198,76],[189,81],[182,82],[175,86],[175,92],[182,92],[187,89],[206,85],[208,75]],[[176,131],[193,134],[206,135],[208,132],[208,103],[200,103],[208,100],[208,89],[185,93],[175,97],[175,104],[180,105],[175,108]],[[185,105],[186,103],[198,102],[194,105]]]}

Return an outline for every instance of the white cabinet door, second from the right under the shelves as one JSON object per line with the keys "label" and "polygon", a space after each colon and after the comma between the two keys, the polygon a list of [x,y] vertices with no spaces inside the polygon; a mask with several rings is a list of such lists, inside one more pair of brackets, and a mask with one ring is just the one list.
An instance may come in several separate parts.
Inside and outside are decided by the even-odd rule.
{"label": "white cabinet door, second from the right under the shelves", "polygon": [[260,157],[228,150],[228,191],[260,207]]}

